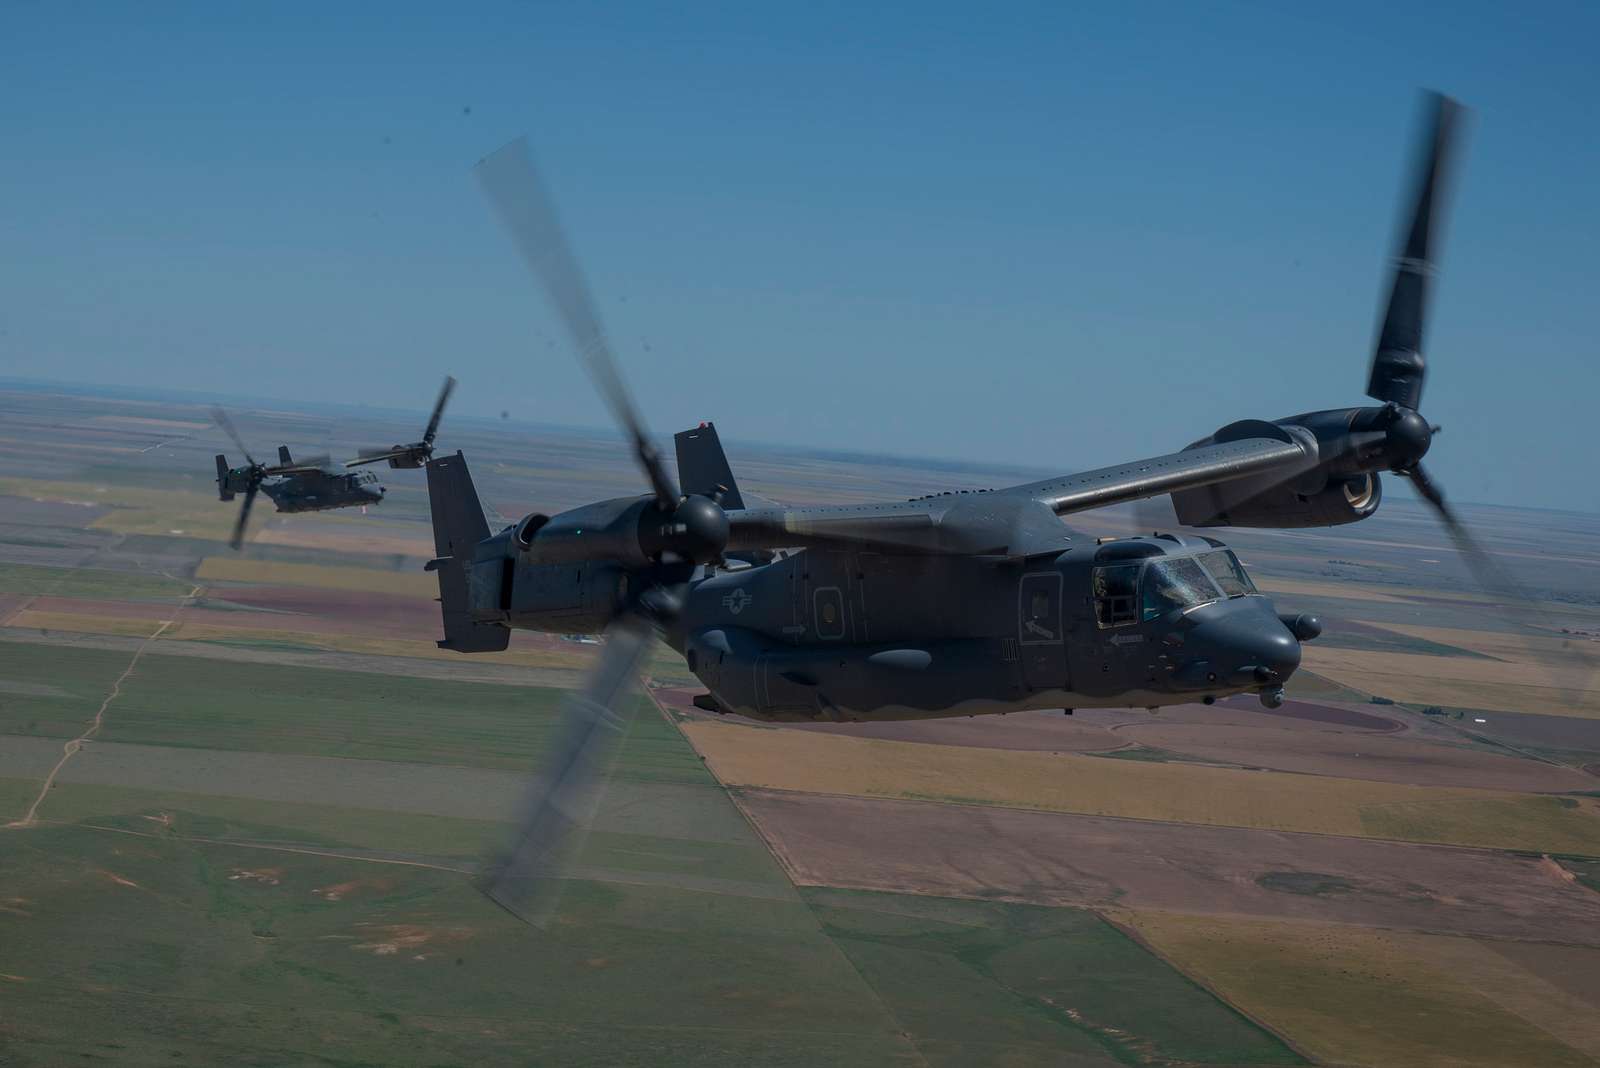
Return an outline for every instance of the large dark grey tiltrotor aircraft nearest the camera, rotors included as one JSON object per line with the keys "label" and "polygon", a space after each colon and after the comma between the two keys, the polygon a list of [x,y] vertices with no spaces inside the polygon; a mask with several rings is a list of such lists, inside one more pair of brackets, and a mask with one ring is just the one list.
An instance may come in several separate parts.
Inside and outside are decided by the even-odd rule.
{"label": "large dark grey tiltrotor aircraft nearest the camera, rotors included", "polygon": [[[1475,550],[1422,468],[1421,414],[1435,216],[1459,107],[1430,99],[1408,225],[1366,395],[1373,404],[1245,419],[1178,452],[982,492],[786,508],[747,499],[715,428],[677,436],[678,481],[610,355],[582,273],[520,142],[477,177],[542,283],[632,443],[651,492],[528,515],[491,534],[466,459],[427,462],[445,638],[504,649],[514,628],[608,635],[566,705],[522,839],[490,876],[549,873],[592,806],[618,700],[651,635],[678,651],[715,713],[859,721],[1027,708],[1158,707],[1254,692],[1274,707],[1320,633],[1280,614],[1203,534],[1098,540],[1062,516],[1171,494],[1189,528],[1309,528],[1373,515],[1382,475],[1408,478],[1480,577]],[[789,550],[789,552],[784,552]],[[798,552],[794,552],[798,550]]]}

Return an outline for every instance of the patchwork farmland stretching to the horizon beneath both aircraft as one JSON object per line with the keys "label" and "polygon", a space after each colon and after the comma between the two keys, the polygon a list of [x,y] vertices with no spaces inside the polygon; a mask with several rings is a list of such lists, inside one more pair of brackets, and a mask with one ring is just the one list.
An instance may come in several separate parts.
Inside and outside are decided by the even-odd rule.
{"label": "patchwork farmland stretching to the horizon beneath both aircraft", "polygon": [[[1600,1060],[1600,584],[1552,577],[1600,571],[1600,523],[1541,569],[1538,520],[1482,512],[1538,625],[1406,502],[1226,532],[1326,627],[1277,710],[778,729],[658,649],[533,927],[475,876],[597,648],[438,649],[421,472],[368,515],[258,504],[234,553],[205,406],[0,416],[0,1063]],[[237,419],[296,456],[414,435]],[[610,435],[443,436],[491,524],[638,489]],[[795,504],[1046,473],[730,454]]]}

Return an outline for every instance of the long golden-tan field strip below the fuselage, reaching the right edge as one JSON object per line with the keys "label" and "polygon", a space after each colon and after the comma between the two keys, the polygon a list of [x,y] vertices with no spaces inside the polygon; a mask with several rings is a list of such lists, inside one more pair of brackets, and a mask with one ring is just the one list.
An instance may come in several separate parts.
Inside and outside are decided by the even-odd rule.
{"label": "long golden-tan field strip below the fuselage, reaching the right edge", "polygon": [[1600,855],[1600,799],[691,721],[728,785]]}

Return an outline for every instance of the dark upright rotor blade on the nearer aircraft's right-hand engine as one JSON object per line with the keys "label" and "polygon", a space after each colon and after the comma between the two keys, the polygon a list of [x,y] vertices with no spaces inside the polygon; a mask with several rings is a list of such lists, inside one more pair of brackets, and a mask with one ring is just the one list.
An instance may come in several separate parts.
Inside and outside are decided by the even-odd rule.
{"label": "dark upright rotor blade on the nearer aircraft's right-hand engine", "polygon": [[1373,350],[1366,395],[1403,408],[1422,403],[1422,336],[1434,261],[1438,251],[1440,209],[1450,192],[1456,130],[1462,107],[1448,96],[1427,94],[1427,133],[1418,155],[1411,221],[1402,238],[1389,285],[1389,307]]}

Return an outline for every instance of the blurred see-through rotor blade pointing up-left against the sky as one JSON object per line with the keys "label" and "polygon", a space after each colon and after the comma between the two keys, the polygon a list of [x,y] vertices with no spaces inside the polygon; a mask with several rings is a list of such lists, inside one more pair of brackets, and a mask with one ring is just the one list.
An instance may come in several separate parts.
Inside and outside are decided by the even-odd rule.
{"label": "blurred see-through rotor blade pointing up-left against the sky", "polygon": [[662,510],[674,510],[678,504],[678,489],[661,464],[656,446],[650,443],[645,424],[622,382],[594,297],[589,294],[589,283],[566,243],[555,203],[533,166],[526,139],[518,137],[485,157],[474,168],[474,174],[517,251],[544,286],[544,296],[566,326],[579,360],[611,406],[611,414],[632,438],[634,454],[645,468],[656,502]]}

